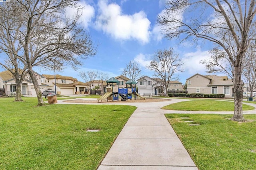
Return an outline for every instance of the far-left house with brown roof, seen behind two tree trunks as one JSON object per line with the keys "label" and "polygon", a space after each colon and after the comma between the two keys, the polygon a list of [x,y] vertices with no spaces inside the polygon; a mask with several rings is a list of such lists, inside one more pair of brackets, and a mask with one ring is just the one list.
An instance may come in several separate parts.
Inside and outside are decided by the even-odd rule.
{"label": "far-left house with brown roof, seen behind two tree trunks", "polygon": [[[34,72],[34,74],[38,80],[40,90],[43,92],[47,89],[47,85],[43,83],[44,76],[38,74],[37,72]],[[0,88],[5,89],[5,94],[7,96],[16,94],[16,82],[10,71],[5,70],[0,72]],[[21,90],[22,95],[36,95],[36,91],[29,74],[25,76],[24,81],[22,82]]]}

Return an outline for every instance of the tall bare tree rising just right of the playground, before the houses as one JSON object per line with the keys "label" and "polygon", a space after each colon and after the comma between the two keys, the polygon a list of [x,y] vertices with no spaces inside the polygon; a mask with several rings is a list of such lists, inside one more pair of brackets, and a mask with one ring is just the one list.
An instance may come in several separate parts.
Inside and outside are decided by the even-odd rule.
{"label": "tall bare tree rising just right of the playground, before the houses", "polygon": [[156,51],[154,59],[146,67],[154,70],[154,76],[159,78],[159,83],[165,87],[166,96],[168,96],[169,83],[171,80],[177,79],[177,77],[174,77],[175,74],[183,72],[182,64],[179,55],[174,52],[173,48],[170,48],[169,50]]}

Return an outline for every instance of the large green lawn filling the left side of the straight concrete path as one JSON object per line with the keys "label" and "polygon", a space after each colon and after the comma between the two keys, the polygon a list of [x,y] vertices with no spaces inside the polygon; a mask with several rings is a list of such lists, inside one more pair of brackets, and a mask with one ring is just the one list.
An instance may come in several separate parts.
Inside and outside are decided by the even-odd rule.
{"label": "large green lawn filling the left side of the straight concrete path", "polygon": [[[95,170],[134,106],[48,105],[0,98],[0,169]],[[100,129],[99,132],[86,132]]]}

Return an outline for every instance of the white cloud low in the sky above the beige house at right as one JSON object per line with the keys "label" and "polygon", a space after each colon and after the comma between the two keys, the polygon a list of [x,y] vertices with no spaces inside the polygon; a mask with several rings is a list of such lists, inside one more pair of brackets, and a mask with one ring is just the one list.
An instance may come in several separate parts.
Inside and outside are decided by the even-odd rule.
{"label": "white cloud low in the sky above the beige house at right", "polygon": [[210,57],[208,51],[198,50],[192,53],[185,53],[183,56],[182,61],[184,62],[183,67],[185,72],[188,72],[188,74],[202,74],[202,72],[205,72],[204,65],[200,64],[200,61],[206,57]]}

